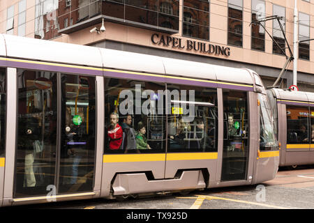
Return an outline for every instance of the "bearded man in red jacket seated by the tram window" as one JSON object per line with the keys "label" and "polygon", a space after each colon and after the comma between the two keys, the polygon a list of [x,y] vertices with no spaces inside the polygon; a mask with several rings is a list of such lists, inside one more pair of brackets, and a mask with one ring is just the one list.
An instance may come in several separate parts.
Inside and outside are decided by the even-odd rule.
{"label": "bearded man in red jacket seated by the tram window", "polygon": [[118,124],[119,116],[117,113],[110,114],[110,127],[108,129],[109,149],[117,150],[120,148],[123,138],[123,131]]}

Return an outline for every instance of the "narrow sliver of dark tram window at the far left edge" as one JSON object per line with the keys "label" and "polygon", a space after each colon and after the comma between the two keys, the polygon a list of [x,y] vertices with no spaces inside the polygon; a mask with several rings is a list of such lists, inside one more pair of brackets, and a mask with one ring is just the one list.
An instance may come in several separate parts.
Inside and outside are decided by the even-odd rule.
{"label": "narrow sliver of dark tram window at the far left edge", "polygon": [[0,68],[0,157],[4,157],[6,141],[6,69]]}

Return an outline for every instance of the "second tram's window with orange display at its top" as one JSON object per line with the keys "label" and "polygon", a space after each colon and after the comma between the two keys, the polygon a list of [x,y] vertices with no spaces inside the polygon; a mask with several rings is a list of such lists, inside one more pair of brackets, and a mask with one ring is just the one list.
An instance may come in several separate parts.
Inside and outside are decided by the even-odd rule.
{"label": "second tram's window with orange display at its top", "polygon": [[308,107],[287,105],[287,144],[309,143]]}

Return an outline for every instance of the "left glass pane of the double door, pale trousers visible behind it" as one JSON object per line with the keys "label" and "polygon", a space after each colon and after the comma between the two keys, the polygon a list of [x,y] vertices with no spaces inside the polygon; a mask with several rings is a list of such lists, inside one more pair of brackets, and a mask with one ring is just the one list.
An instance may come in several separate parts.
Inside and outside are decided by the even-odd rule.
{"label": "left glass pane of the double door, pale trousers visible behind it", "polygon": [[56,165],[57,74],[18,69],[17,75],[14,197],[47,194]]}

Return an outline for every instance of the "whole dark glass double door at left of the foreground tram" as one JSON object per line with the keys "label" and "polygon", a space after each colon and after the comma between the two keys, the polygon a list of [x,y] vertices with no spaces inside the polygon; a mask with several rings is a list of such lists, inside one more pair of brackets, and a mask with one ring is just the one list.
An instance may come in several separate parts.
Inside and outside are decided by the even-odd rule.
{"label": "whole dark glass double door at left of the foreground tram", "polygon": [[95,79],[17,69],[13,197],[93,190]]}

